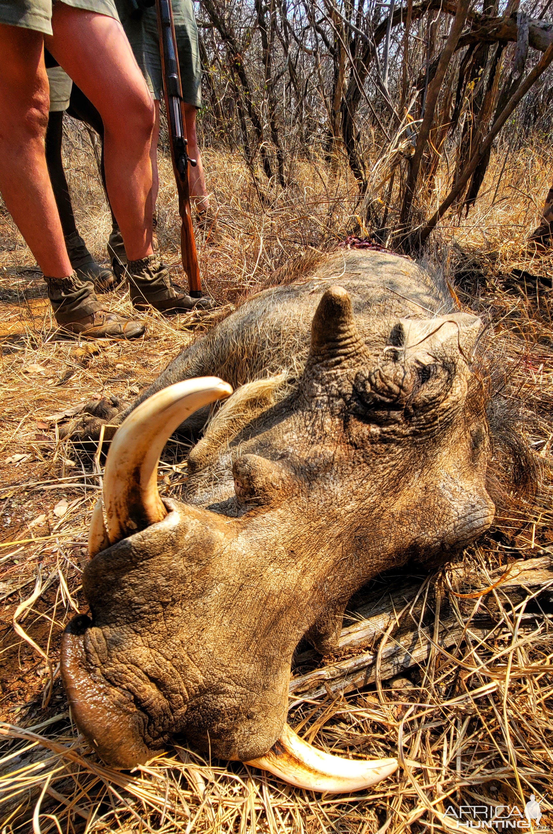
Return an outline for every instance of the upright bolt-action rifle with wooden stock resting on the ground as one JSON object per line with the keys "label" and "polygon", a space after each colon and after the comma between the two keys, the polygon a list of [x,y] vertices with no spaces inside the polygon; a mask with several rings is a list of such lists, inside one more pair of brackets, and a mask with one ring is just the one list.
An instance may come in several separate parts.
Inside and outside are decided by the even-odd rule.
{"label": "upright bolt-action rifle with wooden stock resting on the ground", "polygon": [[189,278],[189,292],[193,298],[201,298],[202,284],[199,277],[198,253],[194,240],[194,228],[190,213],[189,163],[196,165],[188,155],[186,122],[183,109],[183,88],[178,69],[177,38],[173,23],[171,0],[155,0],[158,16],[159,52],[163,71],[163,91],[169,128],[169,144],[173,173],[178,191],[178,214],[181,219],[180,256],[183,269]]}

